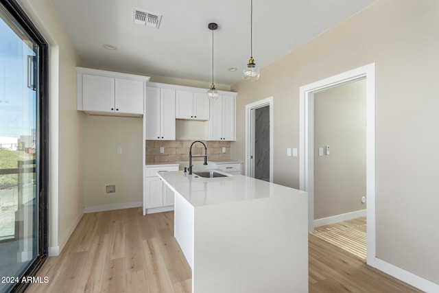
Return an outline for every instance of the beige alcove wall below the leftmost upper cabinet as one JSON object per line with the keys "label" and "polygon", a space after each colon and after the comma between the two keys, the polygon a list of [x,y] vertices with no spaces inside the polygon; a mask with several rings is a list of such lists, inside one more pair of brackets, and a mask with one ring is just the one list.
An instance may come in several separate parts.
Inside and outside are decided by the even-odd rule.
{"label": "beige alcove wall below the leftmost upper cabinet", "polygon": [[141,202],[142,119],[86,115],[84,126],[84,206]]}

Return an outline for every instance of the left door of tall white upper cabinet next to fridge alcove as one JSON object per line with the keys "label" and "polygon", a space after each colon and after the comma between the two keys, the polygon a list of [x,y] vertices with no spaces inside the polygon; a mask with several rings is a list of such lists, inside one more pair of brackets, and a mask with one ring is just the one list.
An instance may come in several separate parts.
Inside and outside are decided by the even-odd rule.
{"label": "left door of tall white upper cabinet next to fridge alcove", "polygon": [[160,139],[160,89],[146,88],[145,98],[145,139]]}

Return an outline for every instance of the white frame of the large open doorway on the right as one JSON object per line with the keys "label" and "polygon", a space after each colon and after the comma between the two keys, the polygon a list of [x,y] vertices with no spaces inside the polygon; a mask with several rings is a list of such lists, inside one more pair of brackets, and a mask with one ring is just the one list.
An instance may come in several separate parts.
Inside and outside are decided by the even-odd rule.
{"label": "white frame of the large open doorway on the right", "polygon": [[366,79],[367,259],[375,258],[375,63],[300,86],[299,188],[308,192],[308,228],[314,230],[314,93]]}

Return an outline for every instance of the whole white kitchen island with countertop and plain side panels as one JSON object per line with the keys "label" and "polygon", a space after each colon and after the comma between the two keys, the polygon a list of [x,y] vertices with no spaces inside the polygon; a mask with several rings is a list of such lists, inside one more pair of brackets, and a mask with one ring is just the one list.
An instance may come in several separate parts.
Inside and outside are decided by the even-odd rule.
{"label": "whole white kitchen island with countertop and plain side panels", "polygon": [[308,292],[307,193],[242,175],[158,172],[192,292]]}

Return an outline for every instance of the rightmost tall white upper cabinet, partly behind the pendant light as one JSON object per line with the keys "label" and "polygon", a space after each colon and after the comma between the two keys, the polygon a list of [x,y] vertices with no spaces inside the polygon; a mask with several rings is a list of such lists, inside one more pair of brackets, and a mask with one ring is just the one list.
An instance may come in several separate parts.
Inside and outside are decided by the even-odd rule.
{"label": "rightmost tall white upper cabinet, partly behind the pendant light", "polygon": [[211,119],[206,121],[207,141],[236,140],[236,97],[235,95],[219,95],[211,102]]}

